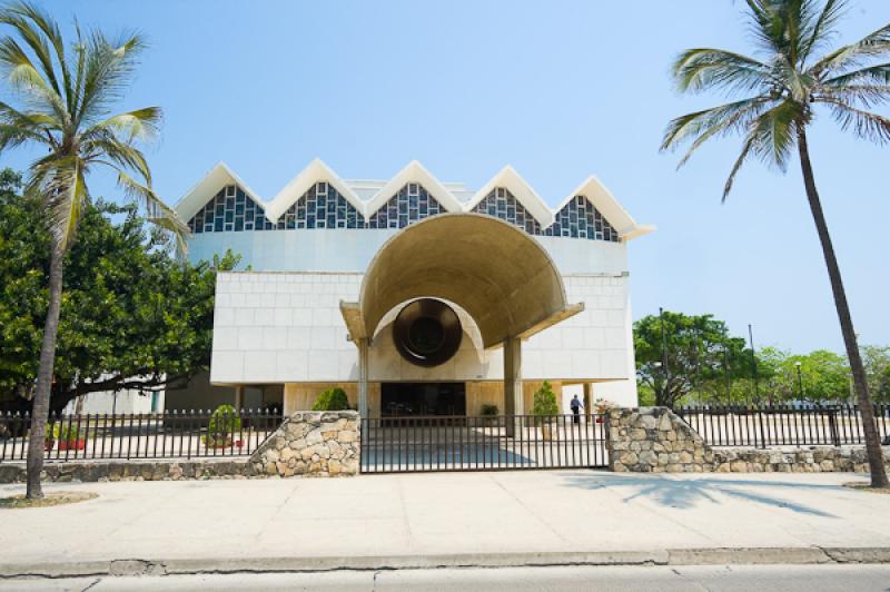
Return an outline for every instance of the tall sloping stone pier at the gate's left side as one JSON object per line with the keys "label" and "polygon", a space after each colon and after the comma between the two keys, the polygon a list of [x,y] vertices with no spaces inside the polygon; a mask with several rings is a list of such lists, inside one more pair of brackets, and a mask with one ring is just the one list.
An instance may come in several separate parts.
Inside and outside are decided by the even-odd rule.
{"label": "tall sloping stone pier at the gate's left side", "polygon": [[289,477],[358,474],[358,412],[296,412],[250,456],[257,474]]}

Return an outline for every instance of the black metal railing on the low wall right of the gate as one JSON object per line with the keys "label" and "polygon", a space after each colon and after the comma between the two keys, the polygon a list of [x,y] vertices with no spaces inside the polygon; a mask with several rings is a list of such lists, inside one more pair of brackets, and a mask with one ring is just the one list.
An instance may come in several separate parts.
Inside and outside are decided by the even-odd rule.
{"label": "black metal railing on the low wall right of the gate", "polygon": [[[680,415],[712,446],[864,444],[858,405],[706,405],[679,407]],[[890,434],[890,405],[874,405],[882,442]]]}

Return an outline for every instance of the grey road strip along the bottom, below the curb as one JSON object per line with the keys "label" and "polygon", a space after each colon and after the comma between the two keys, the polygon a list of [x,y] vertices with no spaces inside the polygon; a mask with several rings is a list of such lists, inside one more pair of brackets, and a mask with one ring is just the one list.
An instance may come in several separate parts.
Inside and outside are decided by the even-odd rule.
{"label": "grey road strip along the bottom, below the curb", "polygon": [[680,568],[502,568],[326,573],[205,574],[70,580],[0,580],[0,590],[33,591],[751,591],[890,590],[890,565],[715,565]]}

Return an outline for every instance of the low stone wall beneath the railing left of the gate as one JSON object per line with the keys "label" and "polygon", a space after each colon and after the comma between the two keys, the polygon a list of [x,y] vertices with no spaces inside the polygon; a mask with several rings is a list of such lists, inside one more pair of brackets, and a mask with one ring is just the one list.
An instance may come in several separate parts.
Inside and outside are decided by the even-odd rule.
{"label": "low stone wall beneath the railing left of the gate", "polygon": [[[72,461],[48,462],[41,480],[51,483],[107,481],[181,481],[196,478],[246,478],[254,466],[247,458],[200,461]],[[24,463],[0,463],[0,483],[24,483]]]}

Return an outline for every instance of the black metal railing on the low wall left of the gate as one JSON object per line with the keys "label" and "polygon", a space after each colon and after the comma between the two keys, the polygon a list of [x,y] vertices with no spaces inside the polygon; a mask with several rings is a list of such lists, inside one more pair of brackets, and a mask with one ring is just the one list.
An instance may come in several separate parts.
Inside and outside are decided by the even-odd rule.
{"label": "black metal railing on the low wall left of the gate", "polygon": [[[192,458],[251,454],[281,423],[281,414],[241,410],[210,432],[212,411],[161,414],[51,414],[44,458]],[[28,414],[0,414],[0,462],[28,456]]]}

